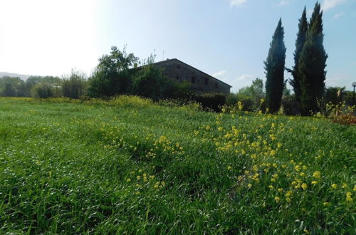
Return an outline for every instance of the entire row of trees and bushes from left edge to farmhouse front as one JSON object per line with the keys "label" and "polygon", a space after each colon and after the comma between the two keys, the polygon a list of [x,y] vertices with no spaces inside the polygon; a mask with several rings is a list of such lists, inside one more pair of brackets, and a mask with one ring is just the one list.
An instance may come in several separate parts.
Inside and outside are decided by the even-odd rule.
{"label": "entire row of trees and bushes from left edge to farmhouse front", "polygon": [[[139,61],[133,53],[111,48],[109,55],[99,59],[89,78],[80,71],[71,71],[62,78],[31,76],[0,78],[0,95],[33,98],[110,98],[115,95],[139,95],[152,100],[189,98],[189,83],[169,80],[163,71],[153,66],[155,56]],[[138,65],[141,66],[138,66]]]}

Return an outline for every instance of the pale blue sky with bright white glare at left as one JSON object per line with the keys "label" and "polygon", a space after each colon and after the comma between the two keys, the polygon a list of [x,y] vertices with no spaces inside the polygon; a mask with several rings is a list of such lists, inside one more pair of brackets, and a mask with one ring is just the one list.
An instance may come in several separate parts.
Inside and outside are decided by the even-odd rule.
{"label": "pale blue sky with bright white glare at left", "polygon": [[[327,85],[356,81],[356,0],[323,0]],[[90,74],[111,46],[156,61],[178,58],[230,85],[263,78],[281,17],[293,66],[298,19],[312,0],[1,0],[0,71]],[[290,78],[286,73],[285,78]]]}

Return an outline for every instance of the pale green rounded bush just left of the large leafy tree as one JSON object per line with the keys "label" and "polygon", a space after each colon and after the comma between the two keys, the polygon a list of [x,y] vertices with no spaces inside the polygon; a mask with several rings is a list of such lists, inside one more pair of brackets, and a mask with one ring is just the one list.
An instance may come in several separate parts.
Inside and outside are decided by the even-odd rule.
{"label": "pale green rounded bush just left of the large leafy tree", "polygon": [[78,99],[85,94],[88,84],[83,73],[72,71],[69,78],[63,78],[62,92],[64,97]]}

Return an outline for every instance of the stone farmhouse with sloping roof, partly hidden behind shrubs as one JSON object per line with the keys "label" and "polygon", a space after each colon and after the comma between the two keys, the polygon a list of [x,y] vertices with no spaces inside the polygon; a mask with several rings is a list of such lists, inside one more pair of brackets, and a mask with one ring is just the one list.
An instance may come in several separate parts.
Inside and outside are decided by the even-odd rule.
{"label": "stone farmhouse with sloping roof, partly hidden behind shrubs", "polygon": [[231,85],[214,78],[213,76],[199,71],[199,69],[189,66],[187,63],[176,58],[167,59],[154,63],[158,68],[163,69],[167,78],[177,82],[187,81],[191,83],[191,89],[196,93],[230,93]]}

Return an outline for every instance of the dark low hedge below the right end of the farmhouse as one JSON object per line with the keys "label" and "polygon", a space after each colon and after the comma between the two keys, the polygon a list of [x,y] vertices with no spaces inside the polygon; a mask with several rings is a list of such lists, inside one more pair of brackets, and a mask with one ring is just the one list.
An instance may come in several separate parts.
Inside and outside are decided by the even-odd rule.
{"label": "dark low hedge below the right end of the farmhouse", "polygon": [[223,93],[201,93],[195,94],[193,99],[206,110],[219,112],[221,107],[226,104],[226,95]]}

